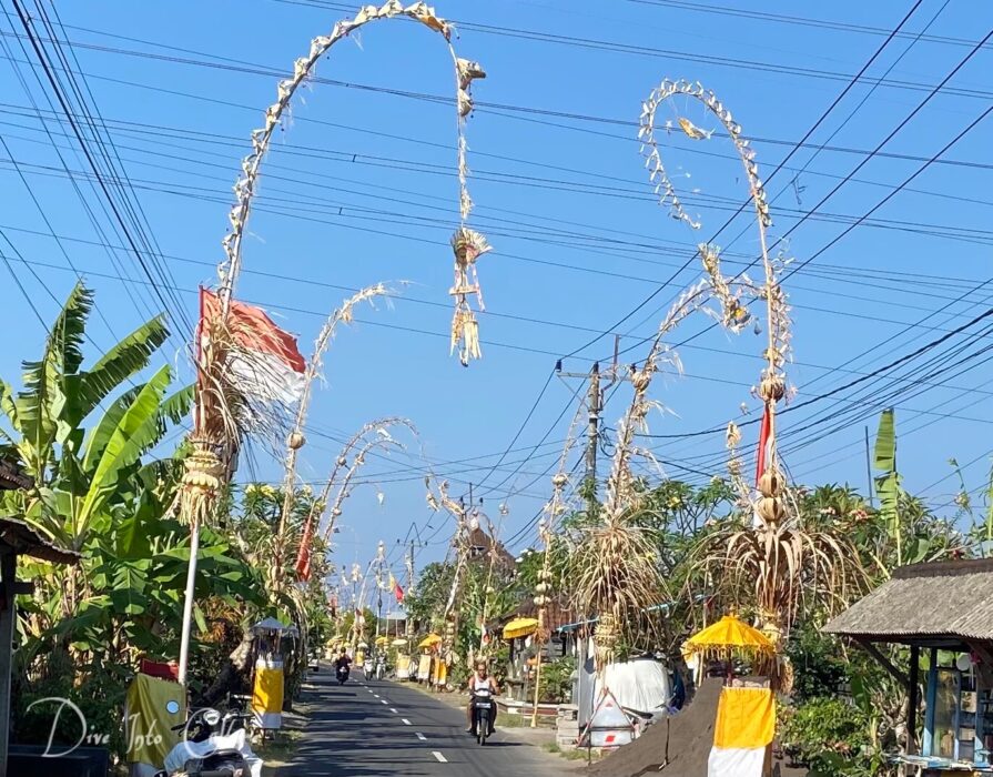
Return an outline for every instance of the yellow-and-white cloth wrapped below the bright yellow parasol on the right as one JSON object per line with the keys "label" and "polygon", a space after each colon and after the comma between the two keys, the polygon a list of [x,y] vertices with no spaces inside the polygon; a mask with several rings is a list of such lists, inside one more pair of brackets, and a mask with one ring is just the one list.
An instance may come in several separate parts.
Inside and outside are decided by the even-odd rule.
{"label": "yellow-and-white cloth wrapped below the bright yellow parasol on the right", "polygon": [[762,777],[774,730],[770,688],[722,688],[707,777]]}

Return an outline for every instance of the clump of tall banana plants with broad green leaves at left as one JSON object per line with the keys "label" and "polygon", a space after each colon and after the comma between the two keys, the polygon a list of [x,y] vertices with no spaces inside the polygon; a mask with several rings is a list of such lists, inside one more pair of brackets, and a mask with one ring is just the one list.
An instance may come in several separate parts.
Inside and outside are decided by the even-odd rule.
{"label": "clump of tall banana plants with broad green leaves at left", "polygon": [[[21,575],[34,581],[37,593],[18,602],[17,736],[47,741],[53,710],[29,714],[28,707],[63,696],[120,755],[123,698],[138,659],[179,653],[190,533],[170,516],[184,451],[151,456],[189,414],[193,394],[189,386],[170,393],[171,367],[152,364],[169,335],[161,316],[88,369],[83,345],[92,306],[92,292],[77,285],[41,357],[24,363],[21,390],[0,381],[0,443],[34,480],[27,492],[0,495],[0,512],[23,517],[82,556],[74,567],[22,559]],[[231,538],[209,528],[200,572],[195,615],[203,633],[194,635],[202,637],[193,646],[194,689],[213,679],[195,670],[217,646],[202,607],[224,612],[240,629],[263,589]],[[73,717],[60,717],[57,738],[78,738]]]}

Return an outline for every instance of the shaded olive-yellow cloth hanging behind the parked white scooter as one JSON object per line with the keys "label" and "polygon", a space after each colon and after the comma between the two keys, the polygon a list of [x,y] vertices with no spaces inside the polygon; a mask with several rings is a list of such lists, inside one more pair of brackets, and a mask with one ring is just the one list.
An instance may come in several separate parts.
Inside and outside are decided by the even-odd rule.
{"label": "shaded olive-yellow cloth hanging behind the parked white scooter", "polygon": [[[169,703],[175,703],[170,713]],[[186,699],[179,683],[138,675],[128,688],[128,761],[159,767],[180,740],[171,731],[186,719]]]}

